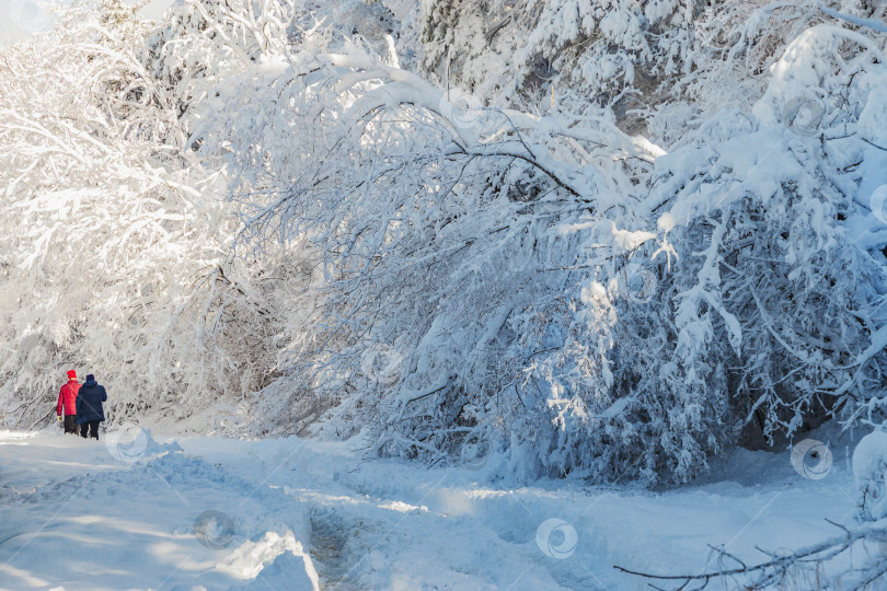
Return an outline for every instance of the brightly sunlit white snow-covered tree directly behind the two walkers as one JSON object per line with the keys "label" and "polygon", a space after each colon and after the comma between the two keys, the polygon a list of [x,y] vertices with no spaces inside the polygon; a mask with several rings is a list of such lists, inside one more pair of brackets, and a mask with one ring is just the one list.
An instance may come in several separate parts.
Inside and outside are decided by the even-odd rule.
{"label": "brightly sunlit white snow-covered tree directly behind the two walkers", "polygon": [[107,385],[112,421],[203,416],[267,383],[274,315],[230,256],[219,166],[181,150],[177,97],[136,58],[146,24],[61,19],[0,56],[5,422],[54,413],[67,369]]}

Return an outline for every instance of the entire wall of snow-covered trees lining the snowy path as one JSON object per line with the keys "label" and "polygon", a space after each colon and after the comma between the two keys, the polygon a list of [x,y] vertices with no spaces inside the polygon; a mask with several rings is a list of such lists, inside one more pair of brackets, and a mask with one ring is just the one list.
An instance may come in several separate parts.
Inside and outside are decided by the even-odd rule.
{"label": "entire wall of snow-covered trees lining the snowy path", "polygon": [[[3,54],[91,83],[2,74],[27,223],[0,280],[41,298],[0,328],[13,420],[47,367],[101,362],[157,373],[125,401],[146,412],[242,402],[263,433],[649,484],[884,421],[883,31],[589,1],[576,27],[423,4],[399,34],[380,4],[188,1],[150,31],[104,9]],[[99,253],[77,280],[71,234]]]}

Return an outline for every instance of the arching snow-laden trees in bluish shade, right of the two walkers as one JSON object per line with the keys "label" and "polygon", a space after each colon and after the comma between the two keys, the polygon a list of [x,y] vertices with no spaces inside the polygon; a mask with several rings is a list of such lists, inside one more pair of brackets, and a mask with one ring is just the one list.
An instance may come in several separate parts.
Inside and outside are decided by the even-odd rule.
{"label": "arching snow-laden trees in bluish shade, right of the two walkers", "polygon": [[[882,68],[867,35],[805,33],[757,121],[712,119],[669,155],[604,111],[484,106],[329,32],[264,47],[232,50],[249,59],[192,141],[237,171],[246,235],[301,241],[314,269],[266,392],[292,396],[283,428],[326,409],[316,432],[369,427],[382,453],[480,438],[519,470],[652,482],[693,477],[744,425],[879,420],[883,262],[846,236],[860,172],[831,172],[871,158],[837,135]],[[786,81],[810,67],[831,111],[806,134],[792,101],[813,89]]]}

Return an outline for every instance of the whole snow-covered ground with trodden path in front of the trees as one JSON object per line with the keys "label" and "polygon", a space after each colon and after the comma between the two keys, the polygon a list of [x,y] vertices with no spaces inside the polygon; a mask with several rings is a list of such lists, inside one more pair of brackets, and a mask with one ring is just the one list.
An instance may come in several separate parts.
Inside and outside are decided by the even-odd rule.
{"label": "whole snow-covered ground with trodden path in front of the trees", "polygon": [[843,449],[821,479],[740,452],[733,482],[650,494],[480,485],[489,465],[297,438],[102,436],[0,432],[0,588],[643,589],[612,566],[700,571],[706,544],[753,561],[854,509]]}

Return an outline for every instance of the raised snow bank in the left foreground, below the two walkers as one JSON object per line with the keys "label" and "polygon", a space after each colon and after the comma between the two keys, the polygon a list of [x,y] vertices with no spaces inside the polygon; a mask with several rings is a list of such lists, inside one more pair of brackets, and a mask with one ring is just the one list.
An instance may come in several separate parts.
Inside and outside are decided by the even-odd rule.
{"label": "raised snow bank in the left foreground, below the two walkers", "polygon": [[319,589],[308,511],[267,474],[139,433],[143,454],[122,461],[104,431],[0,432],[0,589]]}

